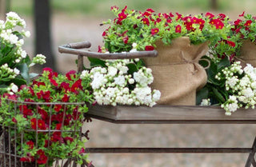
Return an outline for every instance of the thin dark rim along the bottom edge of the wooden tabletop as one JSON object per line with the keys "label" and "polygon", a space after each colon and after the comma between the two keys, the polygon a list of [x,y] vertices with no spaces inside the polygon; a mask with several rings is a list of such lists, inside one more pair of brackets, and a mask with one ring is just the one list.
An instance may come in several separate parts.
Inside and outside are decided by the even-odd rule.
{"label": "thin dark rim along the bottom edge of the wooden tabletop", "polygon": [[256,124],[256,120],[114,120],[90,113],[86,116],[114,124]]}

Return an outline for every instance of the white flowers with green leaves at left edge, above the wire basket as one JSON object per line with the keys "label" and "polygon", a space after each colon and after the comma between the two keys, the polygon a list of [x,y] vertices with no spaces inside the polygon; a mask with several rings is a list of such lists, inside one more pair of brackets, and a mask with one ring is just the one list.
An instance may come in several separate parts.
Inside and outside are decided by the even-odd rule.
{"label": "white flowers with green leaves at left edge, above the wire basket", "polygon": [[24,30],[26,22],[14,12],[6,14],[6,21],[0,20],[0,93],[18,89],[36,74],[29,74],[30,66],[45,63],[45,56],[38,54],[30,60],[22,49],[23,38],[30,37]]}

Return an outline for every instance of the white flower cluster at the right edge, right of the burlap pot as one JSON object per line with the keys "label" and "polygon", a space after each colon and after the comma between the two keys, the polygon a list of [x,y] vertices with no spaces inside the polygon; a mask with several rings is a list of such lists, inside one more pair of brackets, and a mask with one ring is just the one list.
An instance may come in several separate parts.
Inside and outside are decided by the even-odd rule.
{"label": "white flower cluster at the right edge, right of the burlap pot", "polygon": [[226,80],[226,91],[230,92],[229,99],[222,104],[222,108],[226,110],[226,115],[244,106],[254,109],[256,104],[256,68],[247,64],[242,70],[240,62],[234,62],[229,68],[222,70],[215,78]]}

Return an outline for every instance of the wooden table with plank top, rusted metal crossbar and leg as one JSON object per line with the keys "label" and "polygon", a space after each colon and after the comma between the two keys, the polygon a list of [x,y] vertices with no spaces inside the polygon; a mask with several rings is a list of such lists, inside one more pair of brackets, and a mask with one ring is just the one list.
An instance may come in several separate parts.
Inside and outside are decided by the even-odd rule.
{"label": "wooden table with plank top, rusted metal crossbar and leg", "polygon": [[[94,105],[86,113],[115,124],[256,124],[255,109],[238,109],[231,116],[215,106]],[[256,167],[256,137],[250,148],[87,148],[89,153],[249,153],[246,167]]]}

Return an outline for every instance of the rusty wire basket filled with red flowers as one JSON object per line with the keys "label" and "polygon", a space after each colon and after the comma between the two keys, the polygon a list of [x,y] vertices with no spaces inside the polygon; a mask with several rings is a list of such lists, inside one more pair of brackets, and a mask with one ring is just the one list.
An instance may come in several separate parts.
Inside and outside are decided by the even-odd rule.
{"label": "rusty wire basket filled with red flowers", "polygon": [[[82,142],[84,118],[78,106],[84,103],[6,100],[6,104],[8,113],[2,115],[0,129],[0,167],[78,166],[78,157],[74,157],[78,150],[68,148]],[[80,152],[82,156],[85,151]],[[82,161],[81,166],[88,165]]]}

